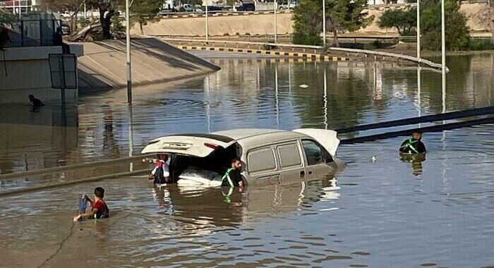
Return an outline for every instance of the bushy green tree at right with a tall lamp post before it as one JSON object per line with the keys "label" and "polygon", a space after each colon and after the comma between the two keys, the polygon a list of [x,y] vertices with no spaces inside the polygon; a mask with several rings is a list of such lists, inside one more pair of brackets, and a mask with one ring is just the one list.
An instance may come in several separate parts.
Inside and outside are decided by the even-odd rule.
{"label": "bushy green tree at right with a tall lamp post before it", "polygon": [[[441,4],[429,0],[423,4],[421,11],[421,32],[423,47],[429,50],[441,48]],[[470,35],[466,26],[466,16],[459,11],[454,0],[445,1],[445,37],[446,49],[459,51],[469,48]]]}

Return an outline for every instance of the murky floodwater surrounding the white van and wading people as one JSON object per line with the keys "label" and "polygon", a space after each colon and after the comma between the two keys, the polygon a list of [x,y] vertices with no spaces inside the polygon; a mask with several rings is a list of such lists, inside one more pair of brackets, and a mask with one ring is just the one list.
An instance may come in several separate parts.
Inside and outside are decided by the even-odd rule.
{"label": "murky floodwater surrounding the white van and wading people", "polygon": [[[210,60],[222,70],[135,89],[132,109],[125,90],[80,96],[64,116],[50,104],[0,107],[0,174],[126,157],[129,140],[138,154],[171,133],[342,128],[494,100],[491,54],[448,58],[445,94],[440,73],[422,70],[418,86],[417,68],[397,63]],[[348,166],[335,178],[229,197],[143,177],[2,196],[0,267],[494,267],[493,127],[426,133],[425,161],[400,159],[403,138],[342,145]],[[71,172],[0,190],[81,176]],[[72,224],[80,193],[97,185],[112,217]]]}

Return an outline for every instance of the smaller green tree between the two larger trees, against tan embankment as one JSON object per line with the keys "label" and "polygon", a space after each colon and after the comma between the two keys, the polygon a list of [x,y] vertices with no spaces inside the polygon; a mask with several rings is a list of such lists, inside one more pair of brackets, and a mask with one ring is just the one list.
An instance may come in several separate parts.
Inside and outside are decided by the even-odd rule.
{"label": "smaller green tree between the two larger trees, against tan embankment", "polygon": [[378,21],[380,28],[396,28],[399,35],[415,35],[417,8],[387,9]]}

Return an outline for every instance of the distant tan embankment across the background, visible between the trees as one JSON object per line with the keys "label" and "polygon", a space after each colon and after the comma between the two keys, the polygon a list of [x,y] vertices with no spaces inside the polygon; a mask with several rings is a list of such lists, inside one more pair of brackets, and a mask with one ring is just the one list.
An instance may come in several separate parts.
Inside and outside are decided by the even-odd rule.
{"label": "distant tan embankment across the background, visible between the trees", "polygon": [[[483,18],[483,11],[486,3],[462,4],[463,11],[468,19],[467,25],[472,32],[485,32],[488,30],[486,19]],[[391,7],[394,8],[394,7]],[[395,29],[382,29],[378,26],[378,21],[385,8],[369,8],[369,16],[375,16],[373,23],[368,27],[351,32],[349,35],[361,36],[397,36]],[[293,13],[279,13],[277,15],[277,33],[293,33]],[[211,36],[221,35],[273,35],[275,32],[275,20],[272,14],[259,15],[231,15],[216,16],[209,18],[209,34]],[[169,36],[205,36],[205,18],[163,18],[157,23],[149,23],[143,26],[143,32],[138,27],[133,29],[138,35],[169,35]],[[328,36],[330,37],[330,36]]]}

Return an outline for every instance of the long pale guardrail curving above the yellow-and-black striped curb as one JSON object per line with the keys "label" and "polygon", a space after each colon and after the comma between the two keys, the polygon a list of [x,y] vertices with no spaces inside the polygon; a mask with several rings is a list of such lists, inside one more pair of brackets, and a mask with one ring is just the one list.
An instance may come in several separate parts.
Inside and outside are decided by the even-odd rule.
{"label": "long pale guardrail curving above the yellow-and-black striped curb", "polygon": [[[159,35],[152,35],[154,37],[159,37]],[[181,39],[181,38],[167,38],[167,37],[160,37],[160,39],[164,41],[171,41],[171,42],[191,42],[191,43],[222,43],[222,44],[245,44],[247,46],[270,46],[270,47],[279,47],[283,49],[283,47],[290,47],[292,49],[294,48],[299,48],[299,49],[314,49],[314,53],[316,53],[318,50],[322,50],[322,46],[311,46],[311,45],[306,45],[306,44],[281,44],[281,43],[263,43],[263,42],[245,42],[245,41],[227,41],[227,40],[205,40],[205,39]],[[383,52],[383,51],[374,51],[374,50],[366,50],[366,49],[347,49],[343,47],[329,47],[327,50],[331,51],[341,51],[341,52],[347,52],[347,53],[355,53],[355,54],[364,54],[365,56],[368,55],[374,55],[374,56],[382,56],[382,57],[391,57],[391,58],[396,58],[396,59],[403,59],[405,61],[413,61],[418,64],[423,64],[425,66],[428,66],[430,68],[434,69],[442,69],[442,65],[439,63],[434,63],[432,61],[428,61],[426,59],[418,59],[414,56],[406,56],[403,54],[394,54],[394,53],[389,53],[389,52]],[[305,50],[304,50],[305,51]],[[446,72],[449,72],[450,69],[445,67]]]}

